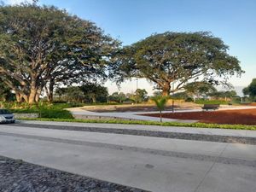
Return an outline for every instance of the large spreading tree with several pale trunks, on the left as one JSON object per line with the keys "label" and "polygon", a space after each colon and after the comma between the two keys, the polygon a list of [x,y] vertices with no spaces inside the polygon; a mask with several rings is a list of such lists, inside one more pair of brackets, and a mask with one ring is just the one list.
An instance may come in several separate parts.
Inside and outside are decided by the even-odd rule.
{"label": "large spreading tree with several pale trunks, on the left", "polygon": [[0,7],[0,79],[18,101],[49,101],[55,84],[106,78],[119,43],[88,20],[55,7],[22,4]]}

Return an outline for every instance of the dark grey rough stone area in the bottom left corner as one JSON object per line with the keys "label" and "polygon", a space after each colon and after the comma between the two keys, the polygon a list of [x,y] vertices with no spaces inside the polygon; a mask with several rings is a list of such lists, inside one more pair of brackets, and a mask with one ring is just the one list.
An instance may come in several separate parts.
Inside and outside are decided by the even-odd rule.
{"label": "dark grey rough stone area in the bottom left corner", "polygon": [[0,156],[1,192],[144,192]]}

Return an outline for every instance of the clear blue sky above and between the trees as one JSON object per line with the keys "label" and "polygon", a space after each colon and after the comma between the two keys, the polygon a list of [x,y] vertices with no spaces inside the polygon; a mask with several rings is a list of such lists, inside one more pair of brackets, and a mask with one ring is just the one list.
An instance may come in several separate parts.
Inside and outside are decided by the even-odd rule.
{"label": "clear blue sky above and between the trees", "polygon": [[[39,3],[55,5],[91,20],[124,45],[154,32],[212,32],[229,45],[229,54],[236,56],[246,71],[230,82],[244,87],[256,78],[256,0],[39,0]],[[115,84],[106,85],[110,93],[118,90]],[[130,92],[136,86],[135,80],[127,81],[121,91]],[[153,92],[145,79],[138,80],[138,87]]]}

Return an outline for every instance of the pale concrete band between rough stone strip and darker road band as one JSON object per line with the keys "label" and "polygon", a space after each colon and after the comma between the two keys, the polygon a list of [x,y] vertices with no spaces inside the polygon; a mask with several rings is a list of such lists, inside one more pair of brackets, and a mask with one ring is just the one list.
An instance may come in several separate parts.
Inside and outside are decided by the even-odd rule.
{"label": "pale concrete band between rough stone strip and darker road band", "polygon": [[[212,143],[159,137],[115,135],[113,133],[88,131],[50,130],[44,128],[34,129],[31,127],[17,126],[1,127],[0,135],[1,133],[10,133],[10,135],[14,134],[18,136],[26,135],[34,137],[51,137],[73,141],[86,141],[89,143],[104,143],[116,146],[129,146],[133,148],[151,148],[155,150],[189,154],[196,152],[196,154],[202,155],[213,155],[219,157],[236,158],[240,160],[256,161],[256,145],[246,145],[245,147],[245,145],[237,143]],[[236,148],[247,148],[247,150],[237,151],[236,154],[232,154],[232,151],[235,151]]]}

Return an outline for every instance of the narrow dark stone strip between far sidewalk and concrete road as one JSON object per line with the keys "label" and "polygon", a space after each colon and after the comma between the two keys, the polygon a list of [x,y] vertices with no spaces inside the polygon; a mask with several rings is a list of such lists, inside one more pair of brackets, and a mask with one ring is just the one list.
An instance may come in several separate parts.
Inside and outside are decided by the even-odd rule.
{"label": "narrow dark stone strip between far sidewalk and concrete road", "polygon": [[176,138],[176,139],[218,142],[218,143],[243,143],[243,144],[256,145],[256,138],[253,138],[253,137],[232,137],[232,136],[218,136],[218,135],[206,135],[206,134],[179,133],[179,132],[124,130],[124,129],[112,129],[112,128],[63,126],[63,125],[13,124],[12,126],[25,126],[25,127],[32,127],[32,128],[69,130],[69,131],[91,131],[91,132],[115,133],[115,134],[146,136],[146,137],[164,137],[164,138]]}

